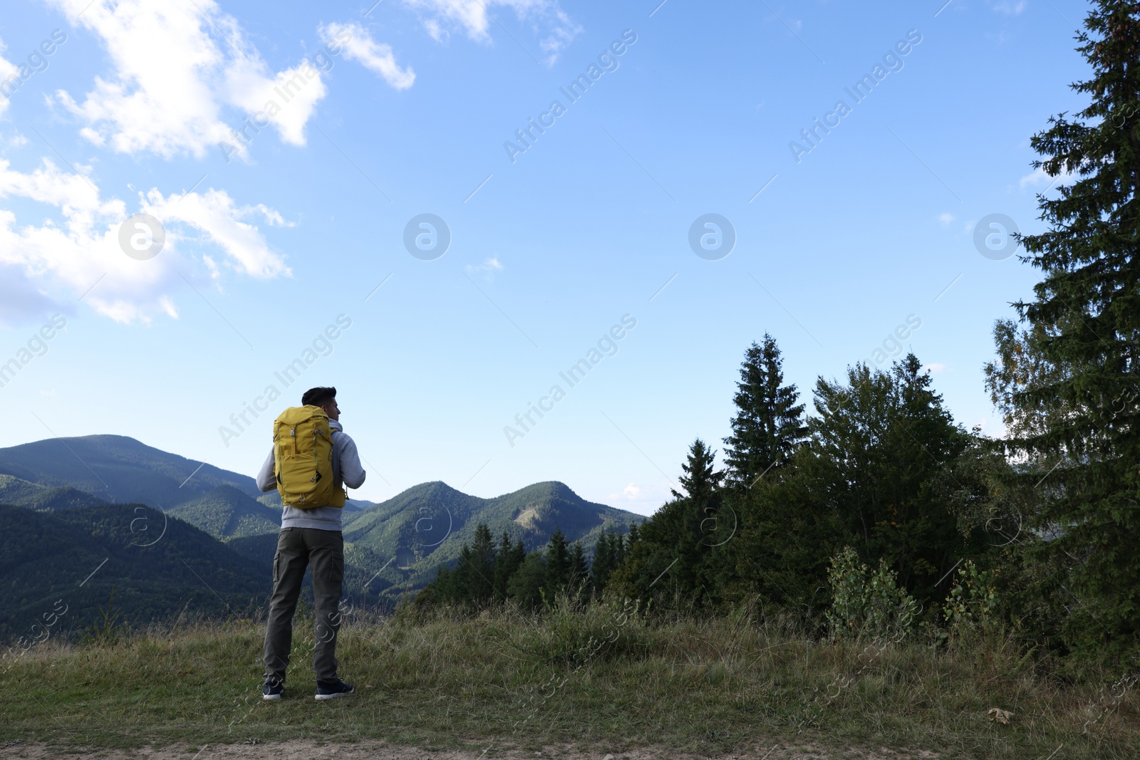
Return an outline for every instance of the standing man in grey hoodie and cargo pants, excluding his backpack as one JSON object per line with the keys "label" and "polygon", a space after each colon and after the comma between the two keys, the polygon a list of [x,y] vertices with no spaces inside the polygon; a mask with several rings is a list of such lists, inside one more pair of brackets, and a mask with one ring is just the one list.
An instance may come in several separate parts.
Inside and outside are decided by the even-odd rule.
{"label": "standing man in grey hoodie and cargo pants, excluding his backpack", "polygon": [[[266,681],[261,694],[266,700],[282,698],[285,689],[285,669],[288,667],[290,647],[293,643],[293,612],[301,594],[306,566],[311,570],[316,612],[312,669],[317,676],[317,698],[331,700],[351,694],[353,690],[336,675],[336,632],[341,624],[341,583],[344,580],[341,513],[344,505],[343,485],[360,488],[364,484],[365,472],[360,466],[360,455],[357,452],[356,443],[341,427],[336,389],[309,389],[301,397],[301,404],[319,407],[328,416],[332,476],[339,498],[323,500],[316,506],[307,504],[304,508],[286,504],[282,510],[282,530],[277,536],[277,555],[274,557],[274,594],[269,602],[263,652]],[[303,412],[304,409],[296,411]],[[316,414],[323,424],[324,418],[315,409],[308,411]],[[283,417],[285,414],[278,419]],[[282,473],[276,463],[277,448],[278,443],[275,442],[274,450],[269,452],[269,458],[258,473],[258,488],[262,491],[272,491],[278,487]],[[317,480],[319,479],[318,473]],[[284,489],[282,496],[285,497]]]}

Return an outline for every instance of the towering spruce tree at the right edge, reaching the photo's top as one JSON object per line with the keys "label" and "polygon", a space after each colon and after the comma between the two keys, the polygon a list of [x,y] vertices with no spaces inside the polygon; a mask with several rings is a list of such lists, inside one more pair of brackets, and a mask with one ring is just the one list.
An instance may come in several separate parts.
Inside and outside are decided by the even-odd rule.
{"label": "towering spruce tree at the right edge, reaching the photo's top", "polygon": [[987,386],[1007,452],[1040,488],[1033,534],[1061,563],[1069,645],[1140,653],[1140,5],[1096,0],[1077,50],[1090,105],[1049,120],[1031,145],[1058,196],[1037,196],[1049,229],[1021,237],[1041,269],[1019,329],[994,329]]}

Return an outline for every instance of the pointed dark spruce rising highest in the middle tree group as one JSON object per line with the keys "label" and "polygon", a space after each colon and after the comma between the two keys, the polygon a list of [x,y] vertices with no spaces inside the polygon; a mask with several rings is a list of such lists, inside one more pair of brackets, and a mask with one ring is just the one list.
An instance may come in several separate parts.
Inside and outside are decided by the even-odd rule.
{"label": "pointed dark spruce rising highest in the middle tree group", "polygon": [[736,416],[732,435],[724,439],[728,481],[749,487],[769,467],[788,461],[804,440],[804,404],[795,385],[783,384],[783,358],[774,337],[764,334],[763,344],[752,342],[744,352],[736,383]]}

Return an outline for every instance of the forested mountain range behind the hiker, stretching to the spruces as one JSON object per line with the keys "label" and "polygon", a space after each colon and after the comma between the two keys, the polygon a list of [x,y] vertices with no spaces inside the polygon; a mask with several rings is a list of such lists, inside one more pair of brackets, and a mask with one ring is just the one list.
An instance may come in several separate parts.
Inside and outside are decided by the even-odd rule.
{"label": "forested mountain range behind the hiker, stretching to the spruces", "polygon": [[[131,438],[0,449],[0,637],[42,624],[57,603],[70,606],[65,626],[88,624],[112,588],[133,623],[186,611],[228,614],[263,605],[270,590],[277,492]],[[528,550],[561,529],[589,555],[603,530],[642,520],[559,482],[490,499],[438,481],[382,504],[350,499],[344,591],[353,604],[391,606],[454,564],[479,523],[496,541],[507,533]]]}

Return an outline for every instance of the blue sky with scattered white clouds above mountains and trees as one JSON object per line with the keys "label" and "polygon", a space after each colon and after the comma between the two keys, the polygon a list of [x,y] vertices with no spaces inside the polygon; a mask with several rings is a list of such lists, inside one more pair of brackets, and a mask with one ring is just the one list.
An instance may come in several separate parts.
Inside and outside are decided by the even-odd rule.
{"label": "blue sky with scattered white clouds above mountains and trees", "polygon": [[[116,433],[253,474],[272,416],[331,384],[356,496],[560,480],[650,514],[695,436],[722,448],[751,341],[776,337],[811,408],[907,319],[958,420],[1001,434],[982,365],[1037,272],[975,226],[1041,229],[1029,137],[1083,105],[1086,10],[9,3],[0,446]],[[438,224],[405,245],[422,214],[442,255]],[[727,255],[690,246],[706,214]]]}

